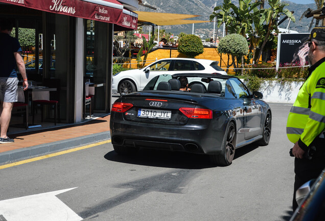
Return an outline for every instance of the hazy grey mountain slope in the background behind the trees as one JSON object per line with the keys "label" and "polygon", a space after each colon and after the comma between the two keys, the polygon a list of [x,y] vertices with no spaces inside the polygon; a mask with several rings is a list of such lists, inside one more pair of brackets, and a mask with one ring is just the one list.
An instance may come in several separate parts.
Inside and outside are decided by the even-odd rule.
{"label": "hazy grey mountain slope in the background behind the trees", "polygon": [[[170,0],[170,1],[161,1],[161,0],[147,0],[147,2],[156,7],[157,10],[152,10],[147,7],[140,6],[139,11],[149,11],[149,12],[164,12],[164,13],[180,13],[180,14],[195,14],[201,15],[197,18],[197,20],[209,20],[212,12],[210,8],[217,2],[217,6],[222,5],[223,0]],[[235,5],[238,5],[238,1],[232,1]],[[315,4],[296,4],[289,1],[283,1],[283,3],[288,3],[289,6],[285,7],[290,11],[294,11],[294,16],[296,22],[290,23],[290,30],[298,31],[300,33],[309,32],[309,25],[311,23],[312,18],[303,17],[301,21],[299,21],[301,15],[308,9],[316,9]],[[265,4],[267,7],[267,4]],[[282,18],[280,18],[282,19]],[[280,25],[280,28],[287,28],[288,20]],[[315,20],[313,26],[315,26]],[[165,29],[166,32],[174,33],[175,35],[180,32],[184,32],[187,34],[192,34],[192,25],[174,25],[174,26],[160,26],[160,29]],[[210,38],[213,35],[214,23],[199,23],[194,24],[194,32],[195,34],[199,34],[201,38]],[[155,28],[156,29],[156,28]],[[216,35],[222,36],[222,27],[218,29],[215,27]],[[219,30],[219,31],[218,31]],[[145,32],[149,32],[149,27],[144,27]]]}

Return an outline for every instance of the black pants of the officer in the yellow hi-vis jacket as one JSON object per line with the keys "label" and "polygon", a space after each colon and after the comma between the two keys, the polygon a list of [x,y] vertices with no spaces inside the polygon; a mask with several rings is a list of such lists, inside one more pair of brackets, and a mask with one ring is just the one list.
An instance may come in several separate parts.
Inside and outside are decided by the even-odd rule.
{"label": "black pants of the officer in the yellow hi-vis jacket", "polygon": [[298,204],[296,202],[296,191],[300,186],[304,185],[306,182],[316,179],[321,171],[325,168],[325,157],[324,157],[324,143],[322,143],[322,147],[319,148],[322,151],[317,151],[315,157],[312,160],[308,159],[294,159],[294,191],[293,191],[293,201],[292,201],[292,209],[296,210]]}

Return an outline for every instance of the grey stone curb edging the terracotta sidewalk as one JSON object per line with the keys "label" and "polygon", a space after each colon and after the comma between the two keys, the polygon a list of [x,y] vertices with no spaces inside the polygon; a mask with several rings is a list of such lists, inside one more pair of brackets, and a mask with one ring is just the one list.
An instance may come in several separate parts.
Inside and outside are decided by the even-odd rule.
{"label": "grey stone curb edging the terracotta sidewalk", "polygon": [[71,138],[62,141],[40,144],[32,147],[10,150],[0,153],[0,165],[109,139],[110,134],[109,131],[107,131],[78,138]]}

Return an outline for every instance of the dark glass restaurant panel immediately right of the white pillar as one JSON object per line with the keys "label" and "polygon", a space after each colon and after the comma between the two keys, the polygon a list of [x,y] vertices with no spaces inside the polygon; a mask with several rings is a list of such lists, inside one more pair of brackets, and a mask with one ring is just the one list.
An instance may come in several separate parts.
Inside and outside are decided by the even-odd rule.
{"label": "dark glass restaurant panel immediately right of the white pillar", "polygon": [[[86,20],[85,41],[85,82],[93,86],[92,102],[96,112],[107,112],[108,94],[108,24],[95,20]],[[91,90],[89,90],[90,92]],[[91,93],[91,92],[90,92]]]}

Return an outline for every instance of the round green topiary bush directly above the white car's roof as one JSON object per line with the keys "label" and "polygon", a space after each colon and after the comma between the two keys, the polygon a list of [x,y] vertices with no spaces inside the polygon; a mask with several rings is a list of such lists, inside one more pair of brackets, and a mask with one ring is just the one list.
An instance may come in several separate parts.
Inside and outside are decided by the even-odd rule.
{"label": "round green topiary bush directly above the white car's roof", "polygon": [[196,35],[185,35],[179,39],[177,51],[188,58],[194,58],[203,53],[203,43]]}

